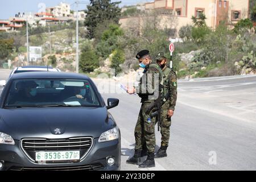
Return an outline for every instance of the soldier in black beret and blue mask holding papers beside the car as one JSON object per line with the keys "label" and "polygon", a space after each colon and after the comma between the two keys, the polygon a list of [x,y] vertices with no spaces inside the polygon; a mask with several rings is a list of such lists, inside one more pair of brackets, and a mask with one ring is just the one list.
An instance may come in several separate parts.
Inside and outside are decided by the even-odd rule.
{"label": "soldier in black beret and blue mask holding papers beside the car", "polygon": [[155,123],[156,118],[151,118],[151,111],[146,112],[148,106],[155,102],[160,91],[159,84],[162,82],[163,73],[158,64],[153,63],[149,55],[149,51],[143,50],[137,54],[137,59],[144,69],[144,75],[141,82],[136,88],[128,89],[129,94],[138,93],[141,97],[141,110],[135,126],[135,153],[134,156],[127,160],[128,164],[139,164],[141,160],[142,145],[146,143],[147,159],[139,164],[139,168],[155,167]]}

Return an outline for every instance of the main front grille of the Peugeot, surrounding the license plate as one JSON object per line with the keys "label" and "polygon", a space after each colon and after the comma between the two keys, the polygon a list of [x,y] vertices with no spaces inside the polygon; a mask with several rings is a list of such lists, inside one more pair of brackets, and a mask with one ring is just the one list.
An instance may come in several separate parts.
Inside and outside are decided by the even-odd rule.
{"label": "main front grille of the Peugeot, surrounding the license plate", "polygon": [[[35,162],[35,153],[38,151],[69,151],[79,150],[80,159],[84,158],[92,147],[93,139],[90,137],[68,138],[68,139],[22,139],[22,148],[28,158]],[[74,162],[74,161],[66,161]],[[60,161],[46,163],[64,163]]]}

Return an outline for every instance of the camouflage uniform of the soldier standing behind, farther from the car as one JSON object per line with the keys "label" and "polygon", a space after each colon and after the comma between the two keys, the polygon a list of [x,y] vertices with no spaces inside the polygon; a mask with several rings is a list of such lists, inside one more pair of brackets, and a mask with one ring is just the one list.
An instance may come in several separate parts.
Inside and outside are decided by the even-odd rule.
{"label": "camouflage uniform of the soldier standing behind, farther from the car", "polygon": [[171,68],[163,69],[163,95],[166,96],[167,92],[170,90],[170,98],[167,100],[161,110],[161,134],[162,134],[162,142],[161,146],[168,147],[169,139],[170,139],[170,126],[171,126],[171,118],[168,118],[168,110],[175,110],[176,100],[177,100],[177,77],[176,73],[172,71]]}

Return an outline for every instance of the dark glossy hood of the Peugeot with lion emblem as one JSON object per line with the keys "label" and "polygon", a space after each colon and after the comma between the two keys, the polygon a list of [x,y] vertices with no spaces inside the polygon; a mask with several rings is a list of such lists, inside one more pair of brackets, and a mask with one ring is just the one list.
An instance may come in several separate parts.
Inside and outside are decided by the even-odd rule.
{"label": "dark glossy hood of the Peugeot with lion emblem", "polygon": [[[0,110],[0,132],[22,138],[100,137],[115,127],[105,107],[47,107]],[[60,130],[60,133],[59,133]]]}

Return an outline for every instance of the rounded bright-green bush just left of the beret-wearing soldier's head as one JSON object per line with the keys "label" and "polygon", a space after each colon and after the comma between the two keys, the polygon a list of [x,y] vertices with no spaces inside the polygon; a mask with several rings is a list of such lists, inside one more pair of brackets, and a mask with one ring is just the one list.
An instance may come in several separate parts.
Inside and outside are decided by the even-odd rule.
{"label": "rounded bright-green bush just left of the beret-wearing soldier's head", "polygon": [[118,73],[122,72],[122,64],[125,62],[125,53],[120,49],[114,50],[110,61],[110,68],[114,68],[115,74],[117,75]]}

